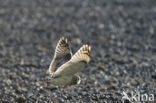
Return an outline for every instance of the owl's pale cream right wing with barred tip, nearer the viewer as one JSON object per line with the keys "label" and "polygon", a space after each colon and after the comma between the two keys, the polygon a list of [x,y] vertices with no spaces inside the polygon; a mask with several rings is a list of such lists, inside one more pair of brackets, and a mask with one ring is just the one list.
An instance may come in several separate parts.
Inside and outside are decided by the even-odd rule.
{"label": "owl's pale cream right wing with barred tip, nearer the viewer", "polygon": [[54,73],[54,78],[61,76],[74,75],[80,72],[85,65],[90,61],[91,47],[88,45],[83,45],[72,58],[60,66]]}

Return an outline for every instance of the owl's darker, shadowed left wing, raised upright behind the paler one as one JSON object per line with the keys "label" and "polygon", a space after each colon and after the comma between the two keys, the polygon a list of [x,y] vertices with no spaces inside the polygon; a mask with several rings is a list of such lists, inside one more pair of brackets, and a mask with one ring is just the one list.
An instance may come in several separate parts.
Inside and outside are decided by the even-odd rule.
{"label": "owl's darker, shadowed left wing, raised upright behind the paler one", "polygon": [[55,49],[54,57],[49,66],[49,73],[52,75],[56,71],[57,66],[59,65],[62,59],[70,59],[71,57],[72,52],[70,50],[68,40],[64,37],[60,38]]}

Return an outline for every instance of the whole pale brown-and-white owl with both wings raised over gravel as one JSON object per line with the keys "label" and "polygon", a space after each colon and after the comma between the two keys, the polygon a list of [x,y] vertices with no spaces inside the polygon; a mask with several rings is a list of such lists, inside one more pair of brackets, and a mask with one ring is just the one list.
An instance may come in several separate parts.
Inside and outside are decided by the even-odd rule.
{"label": "whole pale brown-and-white owl with both wings raised over gravel", "polygon": [[[65,39],[64,39],[65,40]],[[91,56],[91,47],[88,45],[83,45],[72,57],[69,61],[61,65],[59,68],[55,69],[53,68],[54,64],[57,64],[60,60],[60,58],[64,58],[65,55],[71,54],[69,45],[62,46],[60,43],[65,43],[65,42],[60,42],[58,43],[55,52],[54,59],[52,63],[50,64],[49,71],[52,75],[52,84],[54,85],[72,85],[72,84],[77,84],[78,81],[80,82],[80,77],[76,74],[80,72],[90,61],[90,56]],[[67,42],[66,42],[67,43]],[[59,47],[60,46],[60,47]],[[62,48],[63,47],[63,48]],[[63,54],[62,51],[65,54]],[[68,52],[67,52],[68,51]],[[60,56],[60,55],[62,56]],[[57,58],[59,57],[59,59]],[[51,69],[52,68],[52,69]]]}

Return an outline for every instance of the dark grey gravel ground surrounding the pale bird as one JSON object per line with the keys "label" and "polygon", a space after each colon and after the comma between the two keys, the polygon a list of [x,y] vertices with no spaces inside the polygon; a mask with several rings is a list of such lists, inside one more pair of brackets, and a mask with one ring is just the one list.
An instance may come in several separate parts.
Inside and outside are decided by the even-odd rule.
{"label": "dark grey gravel ground surrounding the pale bird", "polygon": [[[80,85],[41,88],[62,36],[92,60]],[[156,96],[155,0],[0,1],[2,103],[121,103],[123,90]]]}

